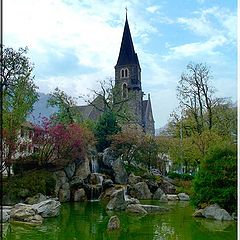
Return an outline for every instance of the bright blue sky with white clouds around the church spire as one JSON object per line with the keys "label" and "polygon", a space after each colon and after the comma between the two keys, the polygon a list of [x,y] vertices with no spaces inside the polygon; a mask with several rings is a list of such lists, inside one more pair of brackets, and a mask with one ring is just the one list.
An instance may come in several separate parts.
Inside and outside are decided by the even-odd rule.
{"label": "bright blue sky with white clouds around the church spire", "polygon": [[91,96],[114,79],[126,7],[156,128],[190,62],[209,66],[217,97],[237,101],[237,0],[5,0],[3,43],[28,47],[38,91]]}

